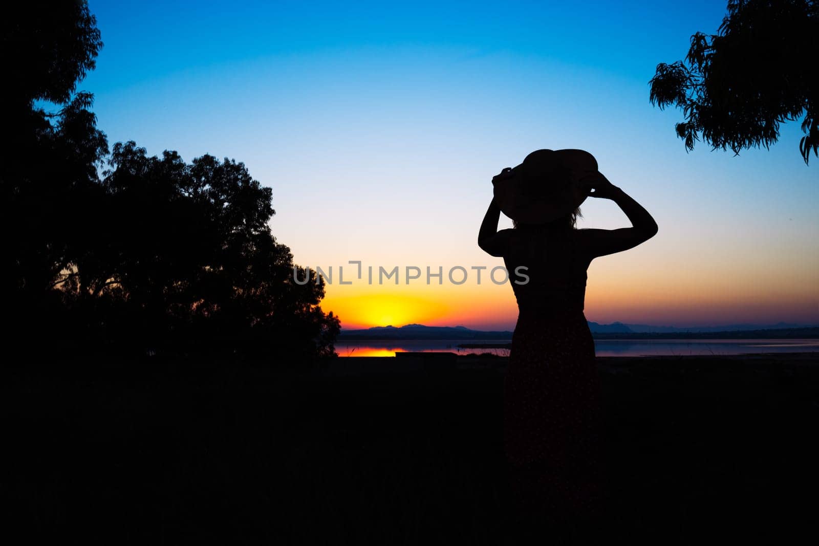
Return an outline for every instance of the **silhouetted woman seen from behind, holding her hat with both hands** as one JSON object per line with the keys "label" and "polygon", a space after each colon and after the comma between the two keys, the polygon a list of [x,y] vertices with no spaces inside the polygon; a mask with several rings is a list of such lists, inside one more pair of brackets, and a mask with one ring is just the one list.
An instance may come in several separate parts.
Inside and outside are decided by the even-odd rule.
{"label": "silhouetted woman seen from behind, holding her hat with both hands", "polygon": [[[657,223],[585,151],[534,151],[492,183],[478,245],[504,258],[518,300],[504,407],[513,519],[529,532],[532,525],[586,526],[601,516],[603,463],[595,345],[583,312],[586,269],[654,237]],[[577,229],[587,196],[617,203],[631,228]],[[515,228],[498,231],[501,210]]]}

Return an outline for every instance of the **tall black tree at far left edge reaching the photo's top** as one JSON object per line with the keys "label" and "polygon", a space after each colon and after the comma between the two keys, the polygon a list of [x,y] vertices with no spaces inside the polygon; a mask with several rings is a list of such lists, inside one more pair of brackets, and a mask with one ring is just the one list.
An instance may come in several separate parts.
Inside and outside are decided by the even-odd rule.
{"label": "tall black tree at far left edge reaching the photo's top", "polygon": [[[74,94],[102,46],[85,2],[11,2],[3,8],[0,143],[0,298],[20,332],[60,327],[52,284],[75,237],[78,211],[96,189],[105,135]],[[56,107],[49,113],[44,106]]]}

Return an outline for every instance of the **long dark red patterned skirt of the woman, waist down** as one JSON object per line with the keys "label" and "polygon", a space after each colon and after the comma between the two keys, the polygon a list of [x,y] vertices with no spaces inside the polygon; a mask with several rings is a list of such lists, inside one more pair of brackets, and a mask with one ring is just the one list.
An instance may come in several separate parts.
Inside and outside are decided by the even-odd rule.
{"label": "long dark red patterned skirt of the woman, waist down", "polygon": [[583,311],[521,312],[504,401],[518,510],[547,521],[599,515],[600,409],[595,344]]}

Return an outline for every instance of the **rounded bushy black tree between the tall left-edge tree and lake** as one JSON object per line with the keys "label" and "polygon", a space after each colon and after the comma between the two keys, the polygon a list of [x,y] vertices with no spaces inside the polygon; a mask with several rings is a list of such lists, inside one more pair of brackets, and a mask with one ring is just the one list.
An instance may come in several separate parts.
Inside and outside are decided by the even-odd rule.
{"label": "rounded bushy black tree between the tall left-edge tree and lake", "polygon": [[[272,192],[234,160],[113,147],[88,233],[61,290],[99,338],[137,351],[334,354],[340,330],[270,233]],[[300,277],[307,274],[301,270]]]}

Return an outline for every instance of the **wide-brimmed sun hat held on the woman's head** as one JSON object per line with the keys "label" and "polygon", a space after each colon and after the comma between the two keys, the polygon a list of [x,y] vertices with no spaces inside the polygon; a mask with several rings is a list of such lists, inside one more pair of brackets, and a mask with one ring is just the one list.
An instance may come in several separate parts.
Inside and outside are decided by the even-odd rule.
{"label": "wide-brimmed sun hat held on the woman's head", "polygon": [[597,160],[588,151],[532,151],[523,163],[492,178],[495,201],[517,222],[547,223],[586,201],[577,180],[596,171]]}

